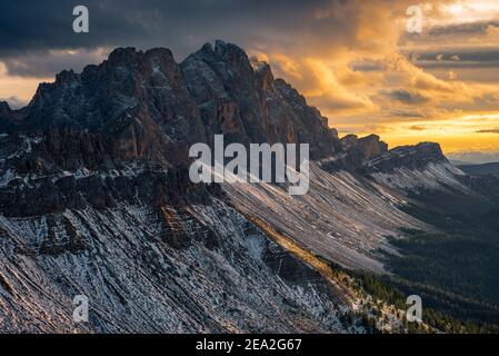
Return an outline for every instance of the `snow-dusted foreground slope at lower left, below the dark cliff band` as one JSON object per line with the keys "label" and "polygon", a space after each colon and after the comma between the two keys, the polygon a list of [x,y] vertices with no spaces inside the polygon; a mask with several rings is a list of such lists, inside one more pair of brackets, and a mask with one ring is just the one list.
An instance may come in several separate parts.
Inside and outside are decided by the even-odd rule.
{"label": "snow-dusted foreground slope at lower left, below the dark cliff band", "polygon": [[[90,324],[71,319],[76,295],[90,298]],[[0,216],[3,333],[346,332],[340,308],[221,201]]]}

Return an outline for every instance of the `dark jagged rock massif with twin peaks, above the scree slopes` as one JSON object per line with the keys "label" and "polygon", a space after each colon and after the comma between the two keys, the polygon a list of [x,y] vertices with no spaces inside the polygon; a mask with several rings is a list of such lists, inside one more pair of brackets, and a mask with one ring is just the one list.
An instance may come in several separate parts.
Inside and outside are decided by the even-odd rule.
{"label": "dark jagged rock massif with twin peaks, above the scree slopes", "polygon": [[[16,115],[0,106],[3,132],[37,132],[44,142],[77,139],[80,145],[71,147],[81,148],[77,156],[87,156],[96,140],[106,142],[96,159],[108,164],[109,158],[184,164],[190,145],[211,144],[217,134],[227,144],[308,142],[311,158],[319,159],[340,149],[337,132],[325,122],[290,85],[273,79],[269,66],[251,63],[243,50],[222,41],[180,65],[168,49],[117,49],[100,66],[63,71],[53,83],[40,85]],[[69,160],[69,167],[79,164]]]}

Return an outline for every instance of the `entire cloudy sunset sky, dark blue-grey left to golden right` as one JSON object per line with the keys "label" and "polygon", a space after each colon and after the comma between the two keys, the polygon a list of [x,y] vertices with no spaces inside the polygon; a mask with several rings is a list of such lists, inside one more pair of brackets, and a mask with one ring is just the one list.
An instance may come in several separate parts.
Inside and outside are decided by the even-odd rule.
{"label": "entire cloudy sunset sky, dark blue-grey left to golden right", "polygon": [[[89,8],[88,34],[72,32],[77,4]],[[410,6],[422,9],[421,33],[407,31]],[[223,39],[270,62],[340,136],[373,132],[391,147],[431,140],[453,158],[499,160],[499,0],[3,0],[1,8],[0,98],[12,107],[38,82],[98,63],[114,47],[168,47],[180,61]]]}

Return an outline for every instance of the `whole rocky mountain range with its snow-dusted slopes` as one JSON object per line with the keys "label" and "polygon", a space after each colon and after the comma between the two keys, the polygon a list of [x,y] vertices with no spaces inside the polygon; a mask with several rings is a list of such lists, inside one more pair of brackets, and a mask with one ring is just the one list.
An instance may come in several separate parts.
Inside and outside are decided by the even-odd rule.
{"label": "whole rocky mountain range with its snow-dusted slopes", "polygon": [[[119,48],[20,110],[0,102],[0,330],[362,333],[375,314],[376,329],[407,330],[348,271],[390,275],[393,240],[441,230],[410,209],[497,209],[499,178],[438,144],[388,149],[327,122],[223,41],[180,63]],[[309,144],[309,192],[190,182],[189,147],[220,134]],[[77,295],[89,323],[71,319]]]}

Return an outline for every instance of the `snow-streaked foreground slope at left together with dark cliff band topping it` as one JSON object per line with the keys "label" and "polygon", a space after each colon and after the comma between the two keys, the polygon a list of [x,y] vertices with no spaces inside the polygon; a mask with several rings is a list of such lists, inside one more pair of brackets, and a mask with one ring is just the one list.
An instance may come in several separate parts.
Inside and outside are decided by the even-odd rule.
{"label": "snow-streaked foreground slope at left together with dark cliff band topping it", "polygon": [[0,333],[351,329],[333,286],[217,191],[143,161],[27,171],[29,140],[2,140]]}

